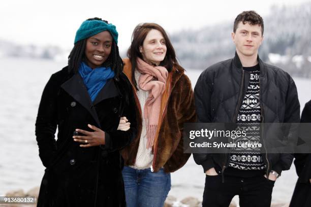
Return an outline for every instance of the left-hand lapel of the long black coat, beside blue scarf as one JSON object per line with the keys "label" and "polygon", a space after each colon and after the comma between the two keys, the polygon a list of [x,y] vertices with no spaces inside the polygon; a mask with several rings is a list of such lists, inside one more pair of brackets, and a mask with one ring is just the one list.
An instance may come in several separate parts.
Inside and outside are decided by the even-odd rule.
{"label": "left-hand lapel of the long black coat, beside blue scarf", "polygon": [[98,126],[101,126],[96,110],[92,105],[87,88],[84,85],[80,74],[75,74],[60,87],[78,101],[92,115]]}

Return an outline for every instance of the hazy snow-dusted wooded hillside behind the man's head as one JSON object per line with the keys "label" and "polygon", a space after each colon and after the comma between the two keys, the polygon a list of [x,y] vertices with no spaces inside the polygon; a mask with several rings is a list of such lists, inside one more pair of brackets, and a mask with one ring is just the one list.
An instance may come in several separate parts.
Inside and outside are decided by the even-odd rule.
{"label": "hazy snow-dusted wooded hillside behind the man's head", "polygon": [[[311,3],[270,9],[264,19],[264,42],[260,57],[293,76],[311,78]],[[171,36],[173,46],[185,68],[204,70],[207,66],[232,58],[232,22],[199,30],[182,30]],[[275,58],[276,57],[276,58]]]}

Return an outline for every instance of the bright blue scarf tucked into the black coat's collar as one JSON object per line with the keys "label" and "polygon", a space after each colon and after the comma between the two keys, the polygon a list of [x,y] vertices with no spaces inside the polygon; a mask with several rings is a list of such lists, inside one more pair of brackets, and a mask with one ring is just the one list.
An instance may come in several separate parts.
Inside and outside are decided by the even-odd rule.
{"label": "bright blue scarf tucked into the black coat's collar", "polygon": [[83,79],[92,102],[105,86],[107,80],[114,77],[114,72],[110,67],[97,67],[92,69],[84,62],[82,62],[79,67],[79,74]]}

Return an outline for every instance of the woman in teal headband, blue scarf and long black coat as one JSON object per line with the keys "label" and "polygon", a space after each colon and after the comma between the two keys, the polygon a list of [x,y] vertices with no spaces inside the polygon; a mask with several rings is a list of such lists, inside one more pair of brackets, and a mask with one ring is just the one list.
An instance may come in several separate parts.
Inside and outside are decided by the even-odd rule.
{"label": "woman in teal headband, blue scarf and long black coat", "polygon": [[[38,206],[126,206],[119,150],[135,136],[136,117],[117,37],[107,21],[84,21],[68,66],[45,86],[36,121],[46,167]],[[122,116],[127,131],[117,130]]]}

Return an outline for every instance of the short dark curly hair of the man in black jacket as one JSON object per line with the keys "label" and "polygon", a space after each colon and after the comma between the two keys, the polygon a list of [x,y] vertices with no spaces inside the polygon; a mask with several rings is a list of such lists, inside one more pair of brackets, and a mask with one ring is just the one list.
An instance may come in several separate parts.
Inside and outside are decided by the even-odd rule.
{"label": "short dark curly hair of the man in black jacket", "polygon": [[233,23],[233,32],[234,33],[236,32],[237,25],[239,24],[240,21],[243,24],[249,23],[252,25],[257,24],[257,25],[261,26],[261,34],[263,35],[263,31],[264,31],[263,19],[255,11],[244,11],[244,12],[240,13],[239,15],[237,15],[237,17],[235,18],[234,23]]}

